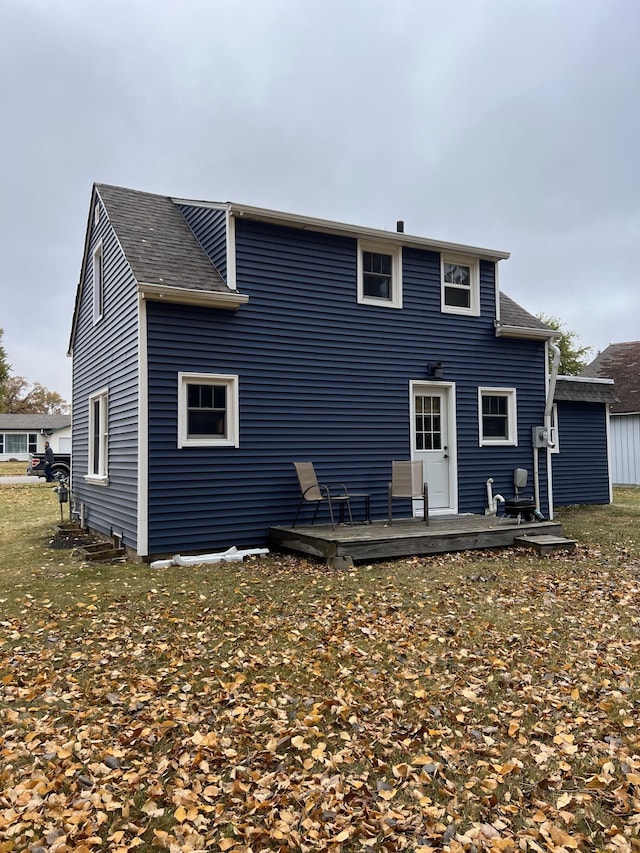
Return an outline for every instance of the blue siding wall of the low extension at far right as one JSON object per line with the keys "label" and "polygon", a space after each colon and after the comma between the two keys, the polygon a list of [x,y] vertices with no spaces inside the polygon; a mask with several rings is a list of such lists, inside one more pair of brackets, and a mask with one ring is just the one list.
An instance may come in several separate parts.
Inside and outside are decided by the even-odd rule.
{"label": "blue siding wall of the low extension at far right", "polygon": [[558,402],[558,447],[553,455],[553,503],[608,504],[606,406]]}

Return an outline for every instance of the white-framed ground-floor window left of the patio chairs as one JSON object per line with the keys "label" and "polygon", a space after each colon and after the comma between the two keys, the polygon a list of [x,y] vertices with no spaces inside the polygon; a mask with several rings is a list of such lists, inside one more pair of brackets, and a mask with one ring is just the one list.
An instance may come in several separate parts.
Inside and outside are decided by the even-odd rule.
{"label": "white-framed ground-floor window left of the patio chairs", "polygon": [[178,447],[238,447],[238,377],[178,374]]}

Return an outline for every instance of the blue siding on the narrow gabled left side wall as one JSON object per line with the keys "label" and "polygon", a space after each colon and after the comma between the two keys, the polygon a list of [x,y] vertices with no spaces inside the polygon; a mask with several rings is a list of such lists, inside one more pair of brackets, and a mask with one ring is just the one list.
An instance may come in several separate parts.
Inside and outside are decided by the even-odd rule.
{"label": "blue siding on the narrow gabled left side wall", "polygon": [[[103,240],[104,312],[93,322],[93,251]],[[72,489],[94,530],[122,532],[137,546],[138,298],[129,264],[104,209],[89,234],[73,341]],[[109,391],[109,485],[88,483],[89,396]]]}

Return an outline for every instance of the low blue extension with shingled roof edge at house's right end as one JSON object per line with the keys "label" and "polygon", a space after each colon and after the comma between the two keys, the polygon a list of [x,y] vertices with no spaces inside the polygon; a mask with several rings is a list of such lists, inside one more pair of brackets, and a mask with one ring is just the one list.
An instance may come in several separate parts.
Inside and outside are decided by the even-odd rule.
{"label": "low blue extension with shingled roof edge at house's right end", "polygon": [[558,376],[553,413],[553,504],[612,501],[609,459],[612,379]]}

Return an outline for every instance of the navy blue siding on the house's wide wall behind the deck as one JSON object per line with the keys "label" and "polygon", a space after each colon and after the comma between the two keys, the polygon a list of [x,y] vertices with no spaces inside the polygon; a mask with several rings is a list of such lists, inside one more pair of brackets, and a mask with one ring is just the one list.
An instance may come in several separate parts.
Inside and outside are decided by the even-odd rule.
{"label": "navy blue siding on the house's wide wall behind the deck", "polygon": [[[409,381],[442,361],[456,383],[459,509],[483,512],[485,481],[513,493],[532,472],[544,345],[496,339],[494,265],[480,317],[442,314],[435,252],[403,252],[403,309],[356,302],[354,239],[238,220],[237,312],[149,303],[150,553],[264,541],[298,500],[292,461],[370,492],[386,509],[390,461],[410,453]],[[177,449],[179,371],[239,376],[240,447]],[[478,446],[478,386],[515,387],[519,446]],[[543,510],[546,469],[540,456]]]}

